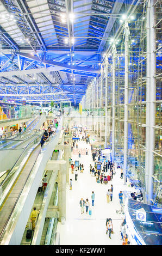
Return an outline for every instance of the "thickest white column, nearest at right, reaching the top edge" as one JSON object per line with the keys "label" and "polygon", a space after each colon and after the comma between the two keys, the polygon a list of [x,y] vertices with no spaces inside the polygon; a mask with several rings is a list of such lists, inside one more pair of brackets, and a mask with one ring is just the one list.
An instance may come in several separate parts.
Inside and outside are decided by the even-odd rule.
{"label": "thickest white column, nearest at right, reaching the top edge", "polygon": [[155,144],[155,99],[156,99],[156,80],[155,80],[155,30],[154,30],[154,6],[153,0],[148,0],[147,4],[147,84],[146,84],[146,159],[145,159],[145,202],[152,203],[153,199],[153,179],[154,172],[154,144]]}

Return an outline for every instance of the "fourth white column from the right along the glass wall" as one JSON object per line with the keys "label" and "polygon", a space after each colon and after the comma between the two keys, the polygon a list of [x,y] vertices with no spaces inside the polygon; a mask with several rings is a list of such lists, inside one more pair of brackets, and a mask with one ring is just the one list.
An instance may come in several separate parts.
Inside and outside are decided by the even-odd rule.
{"label": "fourth white column from the right along the glass wall", "polygon": [[108,57],[105,57],[105,148],[107,148],[107,130],[108,130]]}

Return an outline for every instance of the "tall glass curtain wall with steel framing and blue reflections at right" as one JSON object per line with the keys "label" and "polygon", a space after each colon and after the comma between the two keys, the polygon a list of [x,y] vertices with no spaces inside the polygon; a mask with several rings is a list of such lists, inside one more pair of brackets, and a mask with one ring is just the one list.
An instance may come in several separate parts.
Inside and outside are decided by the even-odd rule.
{"label": "tall glass curtain wall with steel framing and blue reflections at right", "polygon": [[[155,34],[155,100],[151,97],[148,87],[148,65],[153,69],[153,59],[148,60],[148,12],[149,3],[153,3],[153,24]],[[142,189],[145,202],[161,205],[161,171],[162,171],[162,119],[161,119],[161,2],[140,1],[131,14],[134,19],[121,21],[122,26],[114,39],[109,39],[109,48],[101,64],[101,75],[98,77],[99,97],[102,97],[102,109],[105,114],[105,62],[108,61],[108,129],[107,143],[114,149],[114,160],[126,169],[125,180]],[[130,15],[130,14],[129,14]],[[151,11],[152,15],[152,11]],[[151,28],[152,28],[151,27]],[[127,48],[126,48],[127,45]],[[127,51],[127,52],[126,52]],[[125,55],[126,54],[126,55]],[[152,57],[151,57],[152,58]],[[113,62],[114,60],[114,62]],[[114,64],[113,64],[114,63]],[[103,68],[103,73],[102,73]],[[101,79],[102,77],[102,79]],[[127,79],[128,78],[128,79]],[[96,82],[97,84],[97,82]],[[114,89],[113,89],[114,84]],[[115,103],[113,103],[113,93]],[[89,90],[91,94],[91,90]],[[85,98],[86,99],[86,96]],[[86,102],[85,102],[86,106]],[[101,105],[99,105],[101,107]],[[87,107],[87,106],[86,106]],[[150,111],[155,115],[155,122],[149,118]],[[115,125],[113,126],[113,109],[115,111]],[[149,120],[149,123],[148,123]],[[147,133],[153,128],[153,132]],[[149,136],[154,136],[154,145],[149,144]],[[105,136],[105,135],[104,135]],[[153,146],[153,147],[152,147]],[[149,157],[153,156],[152,173],[149,168]],[[126,164],[126,167],[124,166]],[[153,190],[151,197],[147,197],[148,177]]]}

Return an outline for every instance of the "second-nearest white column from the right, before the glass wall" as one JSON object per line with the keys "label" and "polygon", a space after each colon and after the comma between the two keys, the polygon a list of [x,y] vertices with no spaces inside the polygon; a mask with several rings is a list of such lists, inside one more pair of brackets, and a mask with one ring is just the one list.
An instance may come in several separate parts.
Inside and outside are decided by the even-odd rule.
{"label": "second-nearest white column from the right, before the glass wall", "polygon": [[127,174],[127,157],[128,157],[128,59],[129,59],[129,27],[128,22],[125,23],[125,77],[124,77],[124,185],[126,184]]}

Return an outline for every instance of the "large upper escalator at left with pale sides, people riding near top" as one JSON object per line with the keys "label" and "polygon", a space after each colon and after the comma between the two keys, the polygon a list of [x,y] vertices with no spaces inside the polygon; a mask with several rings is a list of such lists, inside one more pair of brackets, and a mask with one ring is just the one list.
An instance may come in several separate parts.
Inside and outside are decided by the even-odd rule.
{"label": "large upper escalator at left with pale sides, people riding near top", "polygon": [[[32,204],[35,199],[34,193],[38,189],[36,187],[39,186],[38,175],[42,176],[41,168],[45,169],[46,163],[49,160],[49,152],[53,150],[55,143],[58,143],[60,127],[62,127],[62,120],[56,134],[52,135],[42,148],[40,148],[41,135],[33,142],[30,142],[30,145],[23,150],[23,153],[1,184],[1,245],[16,245],[18,244],[17,241],[21,241],[19,236],[23,235],[23,226],[27,223],[27,221],[24,222],[23,218],[25,219],[29,216],[28,211],[31,209],[29,204]],[[38,184],[36,184],[36,182],[38,182]],[[21,215],[23,217],[20,217]],[[17,229],[18,233],[15,235]],[[10,235],[10,233],[13,234],[13,236]],[[13,243],[12,239],[16,242]]]}

